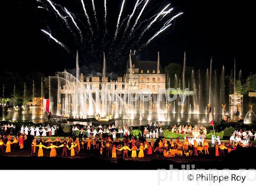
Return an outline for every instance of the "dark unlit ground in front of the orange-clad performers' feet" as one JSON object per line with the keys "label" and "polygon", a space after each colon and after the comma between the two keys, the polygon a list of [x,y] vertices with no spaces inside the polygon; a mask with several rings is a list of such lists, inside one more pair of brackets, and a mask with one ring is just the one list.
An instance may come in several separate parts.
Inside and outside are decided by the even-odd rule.
{"label": "dark unlit ground in front of the orange-clad performers' feet", "polygon": [[[224,159],[214,156],[214,149],[210,155],[175,156],[165,158],[162,155],[145,156],[144,158],[117,159],[100,156],[98,152],[81,152],[75,158],[48,157],[49,151],[44,151],[45,156],[38,158],[30,156],[30,151],[17,151],[0,156],[0,169],[43,169],[43,170],[156,170],[182,169],[181,165],[195,165],[195,169],[256,169],[256,148],[243,148],[226,154]],[[104,155],[104,154],[103,154]],[[130,156],[130,155],[129,155]],[[192,166],[190,166],[192,168]]]}

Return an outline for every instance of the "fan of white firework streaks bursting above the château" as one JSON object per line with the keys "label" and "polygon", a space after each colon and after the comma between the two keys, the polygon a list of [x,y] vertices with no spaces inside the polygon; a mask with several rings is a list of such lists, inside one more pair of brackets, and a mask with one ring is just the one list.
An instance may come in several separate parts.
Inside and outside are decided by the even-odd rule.
{"label": "fan of white firework streaks bursting above the ch\u00e2teau", "polygon": [[[55,30],[61,29],[61,33],[65,33],[62,40],[68,45],[59,42],[46,30],[42,29],[42,31],[69,54],[75,54],[78,49],[82,56],[80,61],[89,64],[87,66],[89,72],[90,68],[95,67],[90,64],[101,63],[103,51],[108,64],[124,65],[127,62],[129,49],[142,51],[157,36],[170,28],[173,25],[172,21],[182,14],[182,12],[173,14],[175,9],[170,4],[165,4],[164,0],[160,3],[157,1],[157,4],[154,0],[136,0],[134,5],[130,4],[131,1],[120,0],[121,8],[116,18],[111,17],[111,14],[107,15],[107,6],[111,7],[112,1],[78,0],[81,9],[79,12],[73,10],[72,13],[68,10],[70,8],[68,5],[64,7],[54,1],[37,0],[40,4],[37,6],[38,9],[47,10],[50,16],[57,16],[57,20],[55,19],[57,23],[52,26],[46,25],[47,30],[52,30],[50,28],[54,27],[55,33]],[[130,6],[132,10],[129,11],[127,7]],[[97,12],[96,7],[102,7],[102,12]],[[130,14],[126,15],[126,11]],[[117,21],[114,28],[111,26],[113,20]],[[52,20],[44,20],[44,22],[48,23]],[[65,25],[64,29],[61,27],[62,23]]]}

